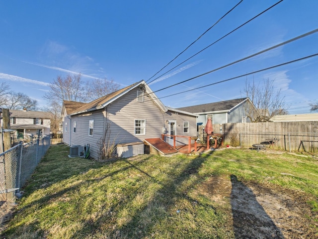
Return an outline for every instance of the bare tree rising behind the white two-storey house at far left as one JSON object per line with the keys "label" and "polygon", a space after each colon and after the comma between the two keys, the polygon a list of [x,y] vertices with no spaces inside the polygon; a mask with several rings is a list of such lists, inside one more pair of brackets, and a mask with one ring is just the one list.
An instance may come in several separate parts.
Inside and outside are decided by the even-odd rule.
{"label": "bare tree rising behind the white two-storey house at far left", "polygon": [[10,110],[23,110],[24,108],[34,111],[37,110],[37,101],[21,92],[9,92],[6,95],[4,106]]}

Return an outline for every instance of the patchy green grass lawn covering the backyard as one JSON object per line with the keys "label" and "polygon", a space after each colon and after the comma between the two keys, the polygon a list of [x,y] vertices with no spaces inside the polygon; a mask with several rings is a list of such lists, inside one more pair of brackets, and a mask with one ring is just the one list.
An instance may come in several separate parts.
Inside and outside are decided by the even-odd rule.
{"label": "patchy green grass lawn covering the backyard", "polygon": [[[66,145],[49,148],[1,238],[253,238],[258,229],[248,231],[247,221],[264,215],[276,238],[318,238],[318,160],[311,155],[225,149],[101,163],[68,154]],[[282,199],[279,206],[269,195]],[[284,208],[284,220],[274,216]],[[287,222],[306,228],[290,231]]]}

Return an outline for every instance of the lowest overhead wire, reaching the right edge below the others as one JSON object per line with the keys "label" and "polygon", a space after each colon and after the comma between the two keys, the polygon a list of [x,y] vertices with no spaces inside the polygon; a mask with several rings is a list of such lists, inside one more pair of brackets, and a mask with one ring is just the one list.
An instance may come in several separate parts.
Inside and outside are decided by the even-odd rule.
{"label": "lowest overhead wire, reaching the right edge below the others", "polygon": [[[194,91],[194,90],[201,89],[201,88],[204,88],[204,87],[208,87],[208,86],[220,84],[220,83],[223,83],[223,82],[235,80],[235,79],[238,79],[238,78],[243,77],[243,76],[252,75],[252,74],[255,74],[255,73],[258,73],[258,72],[262,72],[262,71],[270,70],[270,69],[273,69],[273,68],[276,68],[276,67],[288,65],[288,64],[291,64],[291,63],[294,63],[294,62],[297,62],[297,61],[301,61],[301,60],[305,60],[305,59],[308,59],[308,58],[311,58],[311,57],[315,57],[315,56],[318,56],[318,53],[313,54],[313,55],[309,55],[309,56],[305,56],[305,57],[302,57],[302,58],[298,58],[298,59],[296,59],[296,60],[288,61],[288,62],[285,62],[285,63],[282,63],[282,64],[278,64],[278,65],[275,65],[275,66],[267,67],[267,68],[264,68],[264,69],[261,69],[261,70],[249,72],[249,73],[246,73],[246,74],[243,74],[243,75],[240,75],[240,76],[232,77],[232,78],[229,78],[229,79],[226,79],[226,80],[223,80],[223,81],[218,81],[218,82],[215,82],[215,83],[212,83],[212,84],[208,84],[208,85],[205,85],[205,86],[193,88],[193,89],[191,89],[191,90],[182,91],[182,92],[175,93],[175,94],[171,94],[171,95],[164,96],[164,97],[159,97],[158,99],[162,99],[162,98],[166,98],[166,97],[170,97],[170,96],[175,96],[175,95],[182,94],[182,93],[186,93],[186,92],[189,92],[189,91]],[[201,77],[201,76],[203,76],[203,75],[205,75],[205,74],[202,74],[202,75],[193,77],[193,78],[191,78],[191,80],[192,80],[192,79],[196,79],[196,78],[198,78],[198,77]]]}

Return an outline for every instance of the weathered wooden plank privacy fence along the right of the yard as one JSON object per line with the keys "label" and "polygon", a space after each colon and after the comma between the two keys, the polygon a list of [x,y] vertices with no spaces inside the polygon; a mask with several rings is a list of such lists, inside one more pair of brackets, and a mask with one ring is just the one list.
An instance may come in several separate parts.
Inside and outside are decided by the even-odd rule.
{"label": "weathered wooden plank privacy fence along the right of the yard", "polygon": [[318,152],[318,121],[213,124],[213,131],[222,133],[231,146],[263,143],[280,150]]}

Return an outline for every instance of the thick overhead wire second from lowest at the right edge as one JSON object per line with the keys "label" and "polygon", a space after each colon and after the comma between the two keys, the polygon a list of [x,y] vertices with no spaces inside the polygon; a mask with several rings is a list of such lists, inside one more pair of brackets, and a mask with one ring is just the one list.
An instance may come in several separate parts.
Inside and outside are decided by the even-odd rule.
{"label": "thick overhead wire second from lowest at the right edge", "polygon": [[187,82],[187,81],[191,81],[191,80],[193,80],[193,79],[196,79],[196,78],[198,78],[198,77],[205,76],[205,75],[210,74],[210,73],[212,73],[212,72],[221,70],[221,69],[223,69],[223,68],[226,68],[226,67],[228,67],[228,66],[234,65],[234,64],[239,63],[239,62],[241,62],[241,61],[247,60],[247,59],[249,59],[249,58],[251,58],[251,57],[260,55],[260,54],[262,54],[262,53],[264,53],[264,52],[266,52],[266,51],[273,50],[273,49],[275,49],[275,48],[277,48],[277,47],[286,45],[286,44],[291,43],[291,42],[293,42],[293,41],[299,40],[299,39],[301,39],[301,38],[303,38],[303,37],[309,36],[309,35],[314,34],[314,33],[316,33],[316,32],[318,32],[318,28],[315,29],[315,30],[313,30],[313,31],[307,32],[307,33],[305,33],[305,34],[303,34],[303,35],[300,35],[300,36],[294,37],[294,38],[292,38],[292,39],[289,39],[289,40],[287,40],[287,41],[284,41],[284,42],[282,42],[282,43],[279,43],[279,44],[277,44],[277,45],[275,45],[275,46],[269,47],[269,48],[267,48],[267,49],[265,49],[265,50],[262,50],[262,51],[259,51],[259,52],[257,52],[257,53],[254,53],[254,54],[252,54],[252,55],[249,55],[249,56],[246,56],[246,57],[244,57],[244,58],[241,58],[241,59],[239,59],[239,60],[237,60],[237,61],[234,61],[234,62],[232,62],[232,63],[229,63],[229,64],[227,64],[227,65],[218,67],[218,68],[216,68],[216,69],[214,69],[214,70],[212,70],[212,71],[203,73],[203,74],[201,74],[201,75],[199,75],[199,76],[196,76],[196,77],[190,78],[190,79],[188,79],[188,80],[184,80],[184,81],[181,81],[181,82],[179,82],[179,83],[175,83],[175,84],[173,84],[173,85],[171,85],[171,86],[167,86],[167,87],[162,88],[162,89],[160,89],[160,90],[154,91],[154,93],[155,93],[155,92],[162,91],[162,90],[166,90],[166,89],[168,89],[168,88],[170,88],[170,87],[173,87],[173,86],[176,86],[176,85],[185,83],[185,82]]}

